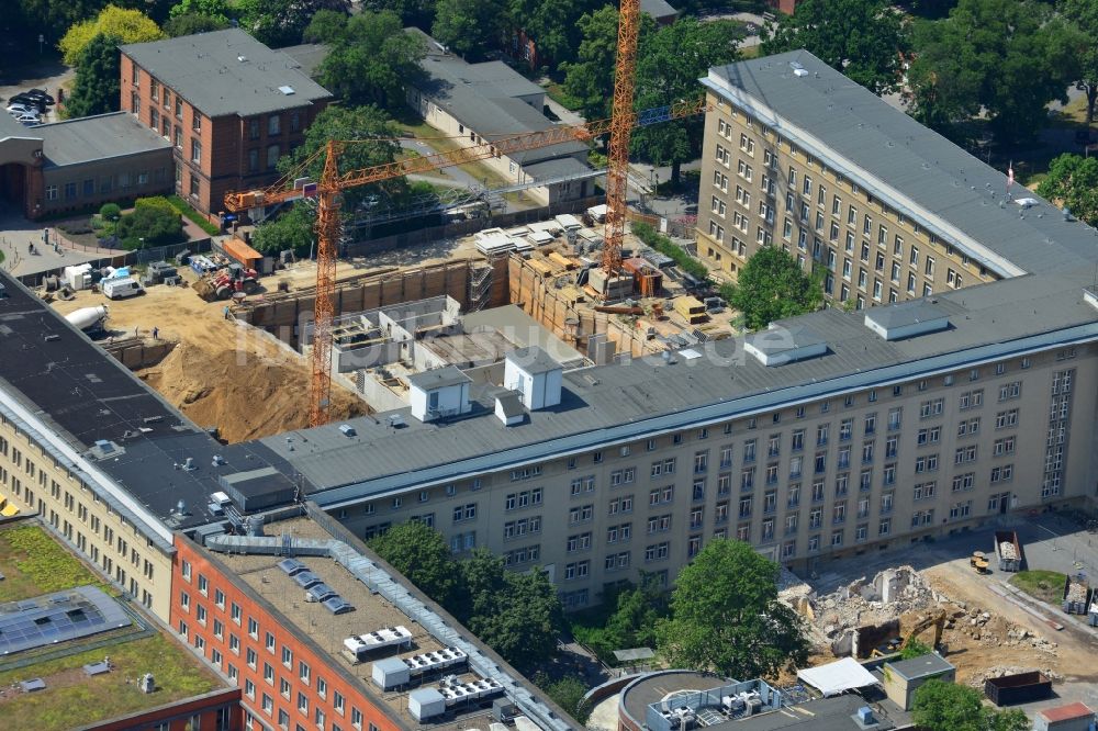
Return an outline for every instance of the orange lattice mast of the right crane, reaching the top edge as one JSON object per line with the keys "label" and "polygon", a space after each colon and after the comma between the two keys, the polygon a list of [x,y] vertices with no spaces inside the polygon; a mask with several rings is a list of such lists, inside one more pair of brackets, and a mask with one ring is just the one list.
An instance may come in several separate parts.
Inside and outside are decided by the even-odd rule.
{"label": "orange lattice mast of the right crane, reaching the top edge", "polygon": [[609,164],[606,169],[603,270],[607,277],[616,274],[621,269],[621,241],[625,238],[626,195],[629,187],[629,137],[636,120],[632,95],[634,79],[637,74],[639,26],[640,0],[621,0],[618,10],[614,103],[610,111]]}

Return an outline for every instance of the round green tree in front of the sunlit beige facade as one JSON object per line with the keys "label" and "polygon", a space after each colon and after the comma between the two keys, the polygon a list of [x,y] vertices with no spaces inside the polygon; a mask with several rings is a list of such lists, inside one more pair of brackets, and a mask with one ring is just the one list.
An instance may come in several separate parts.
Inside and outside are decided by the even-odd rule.
{"label": "round green tree in front of the sunlit beige facade", "polygon": [[729,294],[728,304],[743,314],[752,330],[813,312],[824,302],[819,279],[806,274],[796,259],[773,246],[762,247],[748,259]]}

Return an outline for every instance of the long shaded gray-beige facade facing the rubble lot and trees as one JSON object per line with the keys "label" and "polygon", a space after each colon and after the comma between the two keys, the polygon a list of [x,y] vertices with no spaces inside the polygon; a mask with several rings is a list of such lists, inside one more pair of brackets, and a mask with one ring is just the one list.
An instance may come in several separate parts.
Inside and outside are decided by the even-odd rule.
{"label": "long shaded gray-beige facade facing the rubble lot and trees", "polygon": [[714,538],[816,570],[1082,498],[1094,355],[1078,346],[973,362],[334,515],[366,538],[425,520],[455,552],[483,546],[513,569],[546,566],[572,608],[641,571],[673,580]]}

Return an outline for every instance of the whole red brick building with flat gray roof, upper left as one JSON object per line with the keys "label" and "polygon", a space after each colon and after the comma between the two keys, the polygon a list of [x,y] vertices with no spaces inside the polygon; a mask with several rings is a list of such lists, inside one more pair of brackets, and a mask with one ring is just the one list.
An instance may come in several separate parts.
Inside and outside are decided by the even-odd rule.
{"label": "whole red brick building with flat gray roof, upper left", "polygon": [[175,147],[176,192],[202,213],[225,193],[278,180],[332,94],[290,56],[238,29],[128,44],[122,110]]}

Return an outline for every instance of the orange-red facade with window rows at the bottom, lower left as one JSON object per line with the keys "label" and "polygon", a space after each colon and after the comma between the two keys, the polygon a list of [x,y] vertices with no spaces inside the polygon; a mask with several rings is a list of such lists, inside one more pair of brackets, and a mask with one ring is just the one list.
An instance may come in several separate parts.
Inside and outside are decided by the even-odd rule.
{"label": "orange-red facade with window rows at the bottom, lower left", "polygon": [[[333,661],[326,653],[314,652],[312,648],[294,636],[293,631],[285,627],[283,621],[267,608],[261,599],[253,598],[248,592],[235,586],[231,577],[222,573],[220,564],[205,558],[202,550],[190,539],[179,536],[176,539],[176,558],[171,574],[171,627],[177,632],[180,631],[180,623],[187,626],[187,642],[194,646],[197,638],[202,638],[205,642],[205,656],[213,657],[213,651],[217,650],[222,654],[220,663],[221,670],[228,673],[228,665],[232,664],[238,672],[237,685],[242,689],[242,704],[257,718],[262,719],[268,724],[278,726],[279,710],[285,710],[290,716],[290,728],[295,723],[313,729],[314,709],[324,710],[326,728],[333,723],[345,731],[356,728],[351,724],[351,709],[362,712],[363,730],[373,724],[380,731],[400,731],[400,727],[385,716],[388,709],[381,709],[373,705],[357,684],[348,683],[333,666]],[[190,565],[190,580],[183,577],[183,563]],[[209,582],[206,593],[203,596],[199,591],[200,576],[204,576]],[[225,594],[224,608],[216,606],[216,592],[221,589]],[[190,607],[183,609],[182,594],[189,596]],[[240,623],[237,625],[232,619],[233,604],[240,607]],[[206,611],[205,626],[198,621],[198,607],[204,607]],[[248,633],[249,620],[258,622],[258,631],[253,638]],[[214,620],[224,625],[222,639],[214,637]],[[267,650],[267,633],[274,636],[274,652]],[[239,654],[229,649],[231,637],[235,636],[240,643]],[[293,653],[292,668],[282,664],[282,649],[289,648]],[[248,651],[256,653],[256,667],[248,666]],[[309,684],[304,684],[300,678],[299,663],[305,662],[310,667]],[[269,663],[274,668],[274,682],[268,684],[264,679],[264,663]],[[284,698],[280,691],[280,679],[290,682],[290,697]],[[327,684],[325,698],[321,698],[317,693],[317,679],[323,678]],[[244,693],[247,681],[256,686],[255,699],[248,698]],[[303,693],[309,698],[307,718],[298,711],[298,694]],[[335,710],[335,694],[339,693],[344,701],[344,712],[339,715]],[[262,709],[264,694],[270,696],[273,708],[270,713]],[[203,729],[205,726],[203,724]]]}

